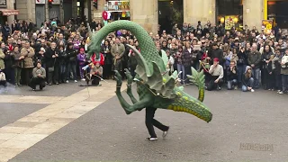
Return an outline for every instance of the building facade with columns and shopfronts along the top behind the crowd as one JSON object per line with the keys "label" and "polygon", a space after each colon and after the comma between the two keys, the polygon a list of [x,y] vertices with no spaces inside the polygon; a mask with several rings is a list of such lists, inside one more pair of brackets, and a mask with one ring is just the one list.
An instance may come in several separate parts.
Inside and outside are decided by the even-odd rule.
{"label": "building facade with columns and shopfronts along the top behind the crowd", "polygon": [[[49,1],[52,3],[49,4]],[[287,0],[0,0],[0,14],[4,15],[1,23],[12,23],[14,19],[31,20],[40,27],[41,23],[54,18],[62,23],[76,17],[87,21],[103,21],[103,12],[106,11],[112,20],[131,20],[147,31],[156,33],[159,15],[163,12],[160,11],[163,7],[158,5],[163,1],[181,1],[181,19],[193,26],[198,21],[226,23],[230,18],[231,23],[240,22],[249,28],[256,26],[257,29],[261,29],[262,20],[275,18],[269,16],[271,11],[268,11],[273,2],[286,1],[288,5]]]}

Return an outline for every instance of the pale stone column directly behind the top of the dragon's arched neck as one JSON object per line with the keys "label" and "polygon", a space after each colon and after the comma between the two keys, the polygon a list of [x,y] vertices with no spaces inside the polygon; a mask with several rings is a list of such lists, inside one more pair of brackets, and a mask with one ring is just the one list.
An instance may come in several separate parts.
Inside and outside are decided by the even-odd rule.
{"label": "pale stone column directly behind the top of the dragon's arched neck", "polygon": [[157,0],[130,0],[130,20],[139,23],[148,32],[158,31]]}

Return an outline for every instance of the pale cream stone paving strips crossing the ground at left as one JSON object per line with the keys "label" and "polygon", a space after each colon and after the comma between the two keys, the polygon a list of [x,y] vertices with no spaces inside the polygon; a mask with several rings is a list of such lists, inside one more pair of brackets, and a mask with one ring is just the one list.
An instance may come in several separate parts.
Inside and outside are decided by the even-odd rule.
{"label": "pale cream stone paving strips crossing the ground at left", "polygon": [[[66,90],[63,89],[62,91]],[[23,150],[30,148],[35,143],[66,126],[69,122],[93,110],[111,98],[114,91],[115,84],[113,81],[109,81],[108,83],[103,82],[102,86],[91,86],[68,96],[38,95],[42,92],[37,92],[34,95],[0,95],[1,107],[7,106],[7,103],[31,103],[31,106],[33,104],[47,105],[0,128],[0,161],[8,161]]]}

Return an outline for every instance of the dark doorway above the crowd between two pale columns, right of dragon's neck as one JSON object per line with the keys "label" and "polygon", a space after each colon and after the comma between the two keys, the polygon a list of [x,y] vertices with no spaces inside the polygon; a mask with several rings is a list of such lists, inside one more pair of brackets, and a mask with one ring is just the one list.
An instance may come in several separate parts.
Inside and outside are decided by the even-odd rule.
{"label": "dark doorway above the crowd between two pale columns, right of dragon's neck", "polygon": [[182,29],[184,22],[183,0],[158,0],[158,23],[160,32],[172,33],[175,23]]}

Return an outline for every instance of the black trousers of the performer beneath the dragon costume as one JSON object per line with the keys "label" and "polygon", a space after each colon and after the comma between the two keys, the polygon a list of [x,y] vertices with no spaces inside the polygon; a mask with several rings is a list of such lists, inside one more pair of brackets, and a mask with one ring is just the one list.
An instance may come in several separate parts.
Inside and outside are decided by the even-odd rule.
{"label": "black trousers of the performer beneath the dragon costume", "polygon": [[166,125],[163,125],[161,122],[154,119],[154,114],[157,108],[154,107],[147,107],[146,108],[146,117],[145,117],[145,124],[148,129],[148,132],[150,134],[151,138],[157,138],[157,135],[155,133],[154,127],[157,127],[157,129],[166,131],[169,129]]}

